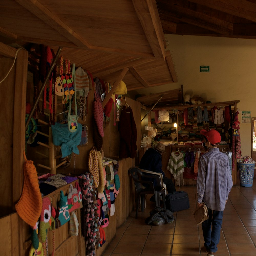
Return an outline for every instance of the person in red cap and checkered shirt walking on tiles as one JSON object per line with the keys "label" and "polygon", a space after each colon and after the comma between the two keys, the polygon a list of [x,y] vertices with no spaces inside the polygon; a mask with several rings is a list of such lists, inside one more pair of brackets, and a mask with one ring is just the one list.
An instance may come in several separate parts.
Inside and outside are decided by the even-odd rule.
{"label": "person in red cap and checkered shirt walking on tiles", "polygon": [[[227,155],[217,147],[221,136],[214,130],[201,130],[208,152],[201,155],[197,174],[197,204],[208,207],[209,219],[202,223],[208,256],[214,256],[220,240],[223,211],[233,186]],[[212,228],[211,228],[212,226]]]}

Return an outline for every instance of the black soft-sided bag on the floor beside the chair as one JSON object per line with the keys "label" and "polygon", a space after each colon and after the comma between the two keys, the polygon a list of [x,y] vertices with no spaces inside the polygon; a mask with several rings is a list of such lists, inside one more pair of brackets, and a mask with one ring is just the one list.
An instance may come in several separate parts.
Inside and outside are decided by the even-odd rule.
{"label": "black soft-sided bag on the floor beside the chair", "polygon": [[166,209],[171,212],[182,211],[188,209],[189,199],[188,193],[185,191],[175,191],[169,193],[165,197]]}

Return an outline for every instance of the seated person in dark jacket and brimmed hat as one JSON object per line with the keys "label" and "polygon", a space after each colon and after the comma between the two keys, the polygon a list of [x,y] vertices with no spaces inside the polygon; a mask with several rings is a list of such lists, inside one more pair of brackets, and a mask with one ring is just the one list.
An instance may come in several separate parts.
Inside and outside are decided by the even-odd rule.
{"label": "seated person in dark jacket and brimmed hat", "polygon": [[[176,191],[173,181],[165,177],[165,173],[162,170],[163,152],[165,152],[165,145],[161,143],[158,143],[155,148],[149,148],[142,156],[139,168],[152,172],[162,173],[167,193],[172,193]],[[150,200],[153,201],[154,196]]]}

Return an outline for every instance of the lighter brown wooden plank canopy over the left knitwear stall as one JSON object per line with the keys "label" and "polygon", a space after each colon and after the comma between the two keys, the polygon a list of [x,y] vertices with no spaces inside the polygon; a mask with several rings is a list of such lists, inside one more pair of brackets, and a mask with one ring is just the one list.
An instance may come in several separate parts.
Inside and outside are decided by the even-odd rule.
{"label": "lighter brown wooden plank canopy over the left knitwear stall", "polygon": [[128,91],[177,82],[154,0],[5,0],[0,20],[0,41],[62,46],[61,56],[110,84],[128,68]]}

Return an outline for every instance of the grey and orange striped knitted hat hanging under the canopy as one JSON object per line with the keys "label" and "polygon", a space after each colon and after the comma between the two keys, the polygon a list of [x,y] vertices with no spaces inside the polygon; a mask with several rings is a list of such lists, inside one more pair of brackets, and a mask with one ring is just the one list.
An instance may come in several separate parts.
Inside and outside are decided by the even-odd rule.
{"label": "grey and orange striped knitted hat hanging under the canopy", "polygon": [[82,97],[87,97],[89,93],[89,78],[81,67],[76,70],[76,92]]}

